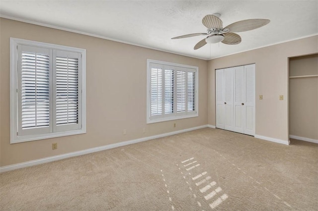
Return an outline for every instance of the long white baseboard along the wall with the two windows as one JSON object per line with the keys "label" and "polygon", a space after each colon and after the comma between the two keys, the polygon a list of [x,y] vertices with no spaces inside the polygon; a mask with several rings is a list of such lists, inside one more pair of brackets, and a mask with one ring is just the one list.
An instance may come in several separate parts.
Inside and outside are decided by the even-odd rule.
{"label": "long white baseboard along the wall with the two windows", "polygon": [[17,164],[13,164],[13,165],[6,165],[3,167],[0,167],[0,173],[5,172],[5,171],[11,171],[11,170],[18,169],[18,168],[24,168],[24,167],[28,167],[28,166],[52,162],[52,161],[56,161],[56,160],[60,160],[60,159],[81,156],[81,155],[85,155],[85,154],[89,154],[89,153],[95,153],[95,152],[108,150],[108,149],[112,149],[112,148],[116,148],[116,147],[122,147],[122,146],[135,144],[135,143],[139,143],[139,142],[143,142],[143,141],[149,141],[152,139],[157,139],[157,138],[161,138],[161,137],[165,137],[165,136],[171,136],[171,135],[175,135],[178,133],[184,133],[184,132],[188,132],[191,130],[197,130],[197,129],[206,128],[206,127],[209,127],[209,126],[202,125],[202,126],[198,126],[198,127],[192,127],[192,128],[173,131],[173,132],[169,132],[169,133],[163,133],[163,134],[159,134],[159,135],[155,135],[155,136],[149,136],[149,137],[144,137],[144,138],[140,138],[140,139],[119,142],[116,144],[109,144],[109,145],[105,145],[105,146],[101,146],[101,147],[90,148],[87,150],[81,150],[81,151],[77,151],[77,152],[73,152],[73,153],[67,153],[67,154],[52,156],[52,157],[48,157],[48,158],[41,158],[41,159],[31,160],[31,161],[27,161],[27,162],[21,162],[21,163],[17,163]]}

